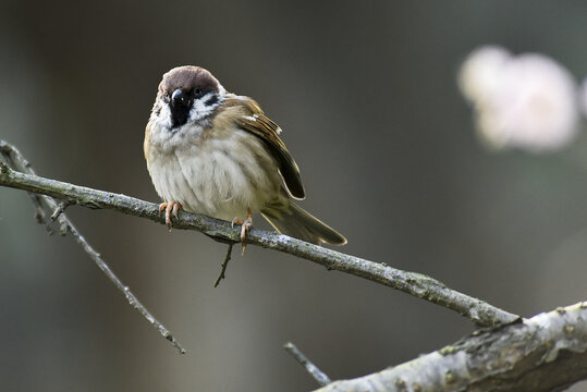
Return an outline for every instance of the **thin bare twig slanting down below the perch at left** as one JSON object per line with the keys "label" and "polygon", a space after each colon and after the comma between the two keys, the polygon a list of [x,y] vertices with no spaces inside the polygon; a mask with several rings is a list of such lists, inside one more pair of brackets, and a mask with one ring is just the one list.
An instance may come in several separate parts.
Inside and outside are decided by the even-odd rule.
{"label": "thin bare twig slanting down below the perch at left", "polygon": [[[27,171],[30,174],[34,175],[34,171],[30,168],[30,164],[24,157],[19,152],[16,148],[9,145],[8,143],[0,140],[0,154],[5,158],[5,160],[13,167],[22,170]],[[8,171],[11,171],[3,162],[0,161],[0,173],[4,173]],[[1,174],[0,174],[1,175]],[[84,252],[89,255],[89,257],[96,262],[99,269],[102,270],[103,273],[114,283],[117,289],[119,289],[124,296],[126,297],[126,301],[131,306],[133,306],[135,309],[137,309],[143,317],[147,319],[147,321],[159,331],[159,333],[166,338],[171,344],[178,348],[178,351],[182,354],[185,354],[185,348],[183,348],[180,343],[175,341],[171,332],[161,323],[159,320],[157,320],[148,310],[147,308],[138,301],[138,298],[131,292],[129,286],[124,285],[122,281],[112,272],[110,267],[102,260],[100,255],[87,243],[87,241],[84,238],[84,236],[77,231],[75,225],[72,223],[72,221],[63,213],[63,210],[65,207],[70,204],[72,204],[69,200],[62,200],[59,205],[48,196],[38,196],[36,194],[32,194],[35,197],[33,198],[35,207],[38,211],[40,211],[42,216],[44,222],[47,223],[47,215],[46,209],[49,211],[54,211],[51,216],[51,219],[57,219],[59,222],[59,225],[61,228],[61,234],[65,235],[65,233],[71,233],[73,237],[75,238],[75,242],[82,246]],[[45,205],[45,206],[44,206]],[[54,218],[53,218],[54,217]]]}

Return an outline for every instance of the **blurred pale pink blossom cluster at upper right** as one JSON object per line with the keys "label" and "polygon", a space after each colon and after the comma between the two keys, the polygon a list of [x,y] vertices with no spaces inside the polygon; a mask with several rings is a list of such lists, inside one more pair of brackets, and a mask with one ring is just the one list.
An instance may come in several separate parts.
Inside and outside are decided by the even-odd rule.
{"label": "blurred pale pink blossom cluster at upper right", "polygon": [[514,57],[500,47],[482,47],[463,63],[458,84],[491,147],[552,151],[577,134],[575,81],[543,54]]}

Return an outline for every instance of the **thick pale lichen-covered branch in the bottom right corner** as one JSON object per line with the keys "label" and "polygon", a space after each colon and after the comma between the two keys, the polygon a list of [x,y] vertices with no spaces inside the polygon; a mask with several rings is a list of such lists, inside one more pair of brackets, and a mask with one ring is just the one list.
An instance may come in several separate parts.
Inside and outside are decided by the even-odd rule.
{"label": "thick pale lichen-covered branch in the bottom right corner", "polygon": [[562,391],[587,378],[587,303],[477,331],[442,350],[319,392]]}

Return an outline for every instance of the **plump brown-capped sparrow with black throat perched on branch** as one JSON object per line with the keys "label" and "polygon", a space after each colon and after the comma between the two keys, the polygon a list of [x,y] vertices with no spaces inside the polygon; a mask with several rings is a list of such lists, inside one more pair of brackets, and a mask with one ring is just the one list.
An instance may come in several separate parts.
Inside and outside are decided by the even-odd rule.
{"label": "plump brown-capped sparrow with black throat perched on branch", "polygon": [[[299,169],[281,128],[249,97],[228,93],[207,70],[163,75],[145,131],[144,151],[166,222],[184,209],[241,224],[241,242],[261,216],[280,233],[343,245],[346,238],[304,209]],[[246,217],[246,218],[245,218]]]}

